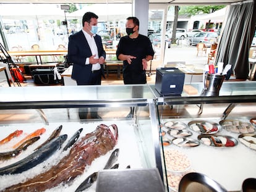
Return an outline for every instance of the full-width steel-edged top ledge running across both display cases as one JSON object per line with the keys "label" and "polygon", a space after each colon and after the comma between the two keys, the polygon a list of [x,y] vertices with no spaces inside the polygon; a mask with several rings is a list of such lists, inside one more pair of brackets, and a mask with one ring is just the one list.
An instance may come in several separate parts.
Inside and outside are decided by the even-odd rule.
{"label": "full-width steel-edged top ledge running across both display cases", "polygon": [[[155,90],[155,85],[98,85],[98,86],[31,86],[19,88],[2,88],[0,90],[0,109],[21,109],[45,107],[81,107],[106,106],[108,104],[130,102],[146,104],[158,99],[158,102],[170,104],[221,103],[221,102],[256,102],[255,81],[224,81],[220,96],[200,96],[202,83],[190,84],[198,90],[198,94],[164,96]],[[12,103],[12,104],[10,104]]]}

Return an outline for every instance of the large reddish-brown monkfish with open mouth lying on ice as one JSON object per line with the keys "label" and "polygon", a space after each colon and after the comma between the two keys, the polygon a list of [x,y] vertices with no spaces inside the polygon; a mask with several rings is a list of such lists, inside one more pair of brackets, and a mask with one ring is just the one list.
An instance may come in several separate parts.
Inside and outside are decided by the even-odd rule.
{"label": "large reddish-brown monkfish with open mouth lying on ice", "polygon": [[60,183],[70,183],[78,175],[81,175],[85,167],[91,165],[94,159],[105,155],[117,144],[117,126],[113,124],[111,127],[114,129],[114,133],[104,124],[98,125],[95,131],[80,138],[59,164],[24,183],[12,185],[4,191],[45,191]]}

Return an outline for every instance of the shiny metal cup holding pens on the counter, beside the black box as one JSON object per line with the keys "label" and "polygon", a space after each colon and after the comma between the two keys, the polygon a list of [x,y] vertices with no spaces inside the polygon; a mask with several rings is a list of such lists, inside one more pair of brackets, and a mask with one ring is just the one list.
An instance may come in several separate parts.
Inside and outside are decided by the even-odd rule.
{"label": "shiny metal cup holding pens on the counter, beside the black box", "polygon": [[207,73],[203,81],[202,96],[219,96],[225,75]]}

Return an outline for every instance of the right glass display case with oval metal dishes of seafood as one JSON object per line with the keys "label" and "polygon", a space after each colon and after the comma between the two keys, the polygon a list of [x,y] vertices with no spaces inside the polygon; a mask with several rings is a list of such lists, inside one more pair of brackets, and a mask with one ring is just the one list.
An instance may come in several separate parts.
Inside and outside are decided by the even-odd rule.
{"label": "right glass display case with oval metal dishes of seafood", "polygon": [[152,90],[169,191],[178,191],[189,172],[207,175],[227,191],[241,191],[246,178],[256,178],[255,81],[224,81],[220,96],[201,96],[202,83],[192,83],[180,96]]}

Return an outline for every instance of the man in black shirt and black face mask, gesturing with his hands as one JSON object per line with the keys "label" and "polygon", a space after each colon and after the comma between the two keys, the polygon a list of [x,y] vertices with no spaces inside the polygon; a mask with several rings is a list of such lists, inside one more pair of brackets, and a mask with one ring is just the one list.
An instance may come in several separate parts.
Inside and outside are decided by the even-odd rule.
{"label": "man in black shirt and black face mask, gesturing with his hands", "polygon": [[[137,17],[127,18],[126,33],[127,36],[121,38],[116,50],[117,59],[123,61],[124,84],[145,84],[147,83],[147,62],[154,56],[152,44],[147,36],[139,34]],[[140,90],[140,94],[143,94],[142,91]],[[134,108],[131,107],[127,117],[132,117],[132,114],[134,114]]]}

